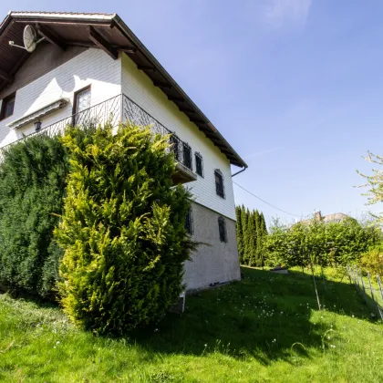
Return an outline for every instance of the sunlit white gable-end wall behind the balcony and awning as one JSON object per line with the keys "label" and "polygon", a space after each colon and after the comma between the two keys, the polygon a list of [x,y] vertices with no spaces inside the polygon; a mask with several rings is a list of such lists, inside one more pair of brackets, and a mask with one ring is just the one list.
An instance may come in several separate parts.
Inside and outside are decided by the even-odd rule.
{"label": "sunlit white gable-end wall behind the balcony and awning", "polygon": [[[38,54],[36,52],[36,54]],[[31,68],[32,70],[32,68]],[[91,106],[121,93],[121,65],[102,50],[88,49],[56,67],[44,76],[16,90],[14,114],[0,121],[0,146],[18,140],[23,134],[34,131],[33,124],[20,129],[10,129],[6,125],[16,119],[41,109],[57,98],[68,98],[63,109],[42,118],[42,127],[67,118],[72,114],[74,93],[91,85]]]}

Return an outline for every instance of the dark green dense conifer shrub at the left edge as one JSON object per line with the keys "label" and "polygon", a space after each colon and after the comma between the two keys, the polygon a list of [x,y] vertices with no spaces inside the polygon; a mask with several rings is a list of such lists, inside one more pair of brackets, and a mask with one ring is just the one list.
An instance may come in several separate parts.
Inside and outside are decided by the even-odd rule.
{"label": "dark green dense conifer shrub at the left edge", "polygon": [[63,210],[67,150],[45,135],[16,143],[0,163],[0,286],[52,297],[62,250],[53,240]]}

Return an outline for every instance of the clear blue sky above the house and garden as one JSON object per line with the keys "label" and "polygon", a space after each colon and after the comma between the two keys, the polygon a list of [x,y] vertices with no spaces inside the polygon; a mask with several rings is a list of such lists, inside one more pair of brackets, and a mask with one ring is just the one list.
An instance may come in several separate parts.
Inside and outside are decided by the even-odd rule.
{"label": "clear blue sky above the house and garden", "polygon": [[[298,215],[369,209],[353,186],[363,182],[357,169],[371,169],[367,150],[383,154],[381,1],[12,4],[118,13],[247,161],[234,181]],[[3,16],[8,7],[0,5]],[[294,220],[237,186],[234,192],[267,221]]]}

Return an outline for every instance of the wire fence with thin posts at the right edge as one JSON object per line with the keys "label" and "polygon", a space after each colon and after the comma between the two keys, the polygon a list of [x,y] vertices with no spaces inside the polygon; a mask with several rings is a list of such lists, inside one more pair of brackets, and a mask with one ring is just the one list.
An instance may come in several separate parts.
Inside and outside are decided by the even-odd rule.
{"label": "wire fence with thin posts at the right edge", "polygon": [[347,265],[347,273],[372,313],[383,320],[383,278],[365,273],[357,266]]}

